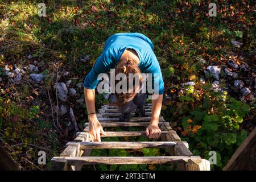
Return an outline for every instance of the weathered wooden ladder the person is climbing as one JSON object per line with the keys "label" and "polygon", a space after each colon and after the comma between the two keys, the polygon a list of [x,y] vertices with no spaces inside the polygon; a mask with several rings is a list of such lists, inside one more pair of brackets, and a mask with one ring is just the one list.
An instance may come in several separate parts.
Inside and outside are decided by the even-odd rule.
{"label": "weathered wooden ladder the person is climbing", "polygon": [[[104,105],[97,114],[102,127],[144,126],[150,123],[151,104],[145,106],[146,116],[135,118],[131,114],[130,122],[118,122],[118,109],[114,106]],[[80,171],[85,164],[177,164],[180,170],[209,171],[208,160],[200,156],[193,156],[188,149],[187,142],[181,142],[176,131],[172,130],[170,123],[163,117],[159,119],[159,127],[162,130],[161,142],[90,142],[89,123],[85,123],[83,132],[77,133],[73,142],[68,142],[60,156],[51,160],[53,170]],[[146,136],[145,131],[105,131],[104,137],[141,137]],[[168,148],[170,156],[89,156],[92,148]]]}

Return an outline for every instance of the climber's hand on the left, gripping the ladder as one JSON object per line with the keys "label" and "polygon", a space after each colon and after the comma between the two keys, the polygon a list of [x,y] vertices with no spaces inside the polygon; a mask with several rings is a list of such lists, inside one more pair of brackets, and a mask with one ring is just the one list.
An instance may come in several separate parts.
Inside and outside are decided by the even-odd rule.
{"label": "climber's hand on the left, gripping the ladder", "polygon": [[101,142],[101,135],[106,135],[96,114],[89,118],[89,139],[92,142]]}

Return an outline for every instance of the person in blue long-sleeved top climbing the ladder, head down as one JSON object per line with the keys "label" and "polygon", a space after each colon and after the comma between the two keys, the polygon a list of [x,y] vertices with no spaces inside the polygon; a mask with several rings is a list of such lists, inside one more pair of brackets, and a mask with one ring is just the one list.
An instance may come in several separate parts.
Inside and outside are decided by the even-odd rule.
{"label": "person in blue long-sleeved top climbing the ladder, head down", "polygon": [[[156,56],[154,46],[150,39],[139,33],[118,33],[110,36],[104,45],[100,57],[94,63],[92,70],[86,75],[84,80],[84,93],[89,120],[89,135],[92,141],[101,141],[100,136],[105,135],[95,111],[95,88],[98,84],[97,77],[100,73],[107,73],[110,69],[115,69],[115,75],[123,73],[137,74],[151,73],[152,82],[158,85],[158,94],[152,100],[152,115],[150,124],[146,128],[146,135],[149,138],[159,138],[161,130],[158,127],[159,115],[162,107],[164,82],[162,73]],[[127,79],[133,82],[133,79]],[[117,82],[115,81],[115,84]],[[153,84],[154,85],[154,84]],[[141,88],[141,87],[140,87]],[[129,121],[130,113],[136,108],[137,117],[144,115],[143,105],[146,103],[146,94],[137,93],[139,88],[133,87],[133,93],[115,93],[112,102],[118,105],[122,112],[119,121]]]}

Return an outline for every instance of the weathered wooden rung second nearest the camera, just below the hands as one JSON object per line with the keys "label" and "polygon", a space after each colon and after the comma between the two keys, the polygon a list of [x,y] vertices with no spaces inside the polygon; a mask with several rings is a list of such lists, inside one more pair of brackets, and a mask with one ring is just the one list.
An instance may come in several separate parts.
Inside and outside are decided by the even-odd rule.
{"label": "weathered wooden rung second nearest the camera, just below the hands", "polygon": [[[86,148],[165,148],[175,146],[179,142],[68,142],[67,145],[80,144],[80,149]],[[187,142],[183,142],[188,146]]]}

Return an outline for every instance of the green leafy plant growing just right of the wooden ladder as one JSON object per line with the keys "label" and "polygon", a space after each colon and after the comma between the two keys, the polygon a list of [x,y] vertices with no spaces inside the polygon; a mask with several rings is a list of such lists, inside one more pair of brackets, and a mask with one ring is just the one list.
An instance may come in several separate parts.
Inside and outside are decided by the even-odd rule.
{"label": "green leafy plant growing just right of the wooden ladder", "polygon": [[227,93],[207,90],[203,103],[183,118],[182,126],[187,133],[184,139],[195,155],[205,159],[209,158],[209,151],[216,151],[217,167],[212,165],[212,168],[222,168],[247,137],[245,130],[240,131],[240,124],[248,111],[249,105],[229,97]]}

